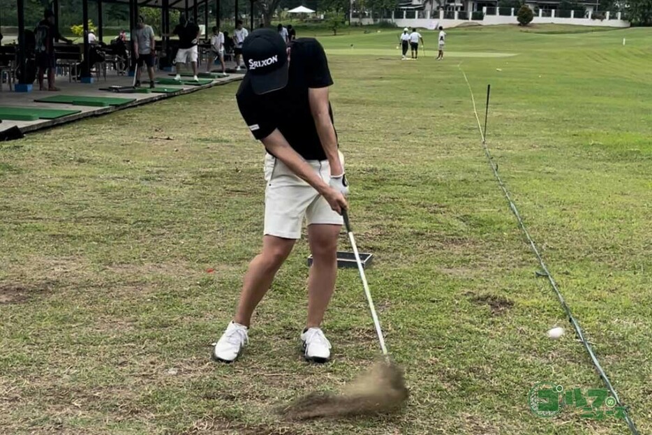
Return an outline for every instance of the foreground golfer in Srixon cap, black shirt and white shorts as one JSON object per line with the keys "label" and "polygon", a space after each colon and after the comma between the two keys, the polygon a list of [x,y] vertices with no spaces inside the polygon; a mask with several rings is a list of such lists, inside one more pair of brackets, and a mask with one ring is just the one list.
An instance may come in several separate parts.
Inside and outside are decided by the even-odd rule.
{"label": "foreground golfer in Srixon cap, black shirt and white shorts", "polygon": [[251,314],[301,238],[304,218],[313,265],[304,358],[326,362],[330,343],[320,325],[335,287],[337,239],[348,186],[328,100],[333,84],[323,47],[299,38],[290,47],[272,29],[256,29],[242,54],[247,72],[237,103],[253,137],[265,146],[265,230],[262,251],[249,265],[235,317],[213,357],[232,362],[247,342]]}

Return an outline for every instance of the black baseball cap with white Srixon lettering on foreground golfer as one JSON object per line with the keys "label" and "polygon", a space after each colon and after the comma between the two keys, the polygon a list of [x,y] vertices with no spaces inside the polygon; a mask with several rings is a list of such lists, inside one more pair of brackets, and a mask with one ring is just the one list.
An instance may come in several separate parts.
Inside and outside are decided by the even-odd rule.
{"label": "black baseball cap with white Srixon lettering on foreground golfer", "polygon": [[286,41],[272,29],[255,29],[242,43],[242,57],[255,94],[283,89],[288,84]]}

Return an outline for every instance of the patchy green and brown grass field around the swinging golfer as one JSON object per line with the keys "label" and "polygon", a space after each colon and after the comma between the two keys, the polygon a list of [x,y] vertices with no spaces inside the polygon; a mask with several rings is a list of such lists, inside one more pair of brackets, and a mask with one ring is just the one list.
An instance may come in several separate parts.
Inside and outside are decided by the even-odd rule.
{"label": "patchy green and brown grass field around the swinging golfer", "polygon": [[[535,276],[464,70],[480,109],[491,84],[499,172],[651,433],[652,33],[592,30],[450,29],[450,52],[513,55],[441,62],[434,32],[418,61],[399,61],[398,30],[320,36],[357,243],[376,256],[369,283],[411,392],[389,417],[274,415],[378,355],[357,273],[343,270],[325,322],[334,360],[302,361],[305,241],[255,314],[242,359],[209,360],[262,232],[262,146],[239,117],[237,84],[0,145],[0,432],[628,433],[623,420],[528,408],[535,383],[602,383]],[[554,325],[567,327],[558,341],[546,337]]]}

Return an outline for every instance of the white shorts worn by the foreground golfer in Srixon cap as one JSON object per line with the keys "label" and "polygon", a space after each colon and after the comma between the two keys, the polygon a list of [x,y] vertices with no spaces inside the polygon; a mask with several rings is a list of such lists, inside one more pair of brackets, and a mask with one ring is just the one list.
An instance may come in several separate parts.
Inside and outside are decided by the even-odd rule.
{"label": "white shorts worn by the foreground golfer in Srixon cap", "polygon": [[[339,154],[342,166],[344,156]],[[309,160],[322,179],[330,180],[327,160]],[[285,239],[300,239],[304,217],[308,225],[342,225],[342,216],[328,205],[310,184],[295,175],[285,163],[270,154],[265,155],[265,235]]]}

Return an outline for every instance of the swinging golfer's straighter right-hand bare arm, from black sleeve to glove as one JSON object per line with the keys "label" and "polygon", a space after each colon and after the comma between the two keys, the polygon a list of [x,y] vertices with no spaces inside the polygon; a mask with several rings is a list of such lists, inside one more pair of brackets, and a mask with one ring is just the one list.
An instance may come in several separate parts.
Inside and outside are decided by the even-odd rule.
{"label": "swinging golfer's straighter right-hand bare arm, from black sleeve to glove", "polygon": [[335,128],[328,110],[328,88],[308,89],[308,100],[310,102],[310,111],[315,120],[319,141],[324,148],[326,158],[328,158],[331,173],[332,175],[341,175],[344,169],[342,168],[341,161],[339,161],[337,136],[335,135]]}

